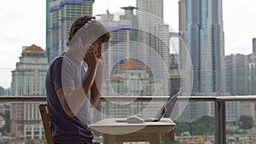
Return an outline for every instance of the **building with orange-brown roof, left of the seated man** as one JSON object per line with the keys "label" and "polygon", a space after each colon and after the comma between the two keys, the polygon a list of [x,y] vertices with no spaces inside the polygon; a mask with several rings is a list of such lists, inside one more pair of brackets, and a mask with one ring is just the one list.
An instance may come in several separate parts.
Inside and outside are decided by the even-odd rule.
{"label": "building with orange-brown roof, left of the seated man", "polygon": [[[23,47],[20,61],[12,71],[12,95],[46,95],[45,76],[48,68],[46,52],[41,47]],[[25,139],[42,139],[44,128],[38,102],[11,104],[11,132]]]}

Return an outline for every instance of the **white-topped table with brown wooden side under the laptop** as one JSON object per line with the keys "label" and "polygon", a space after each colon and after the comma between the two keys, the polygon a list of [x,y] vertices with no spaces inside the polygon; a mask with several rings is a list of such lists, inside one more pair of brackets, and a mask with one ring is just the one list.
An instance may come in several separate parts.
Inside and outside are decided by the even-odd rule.
{"label": "white-topped table with brown wooden side under the laptop", "polygon": [[115,118],[107,118],[88,127],[102,133],[104,144],[119,144],[124,141],[150,141],[151,144],[160,144],[161,141],[174,141],[175,124],[170,118],[143,124],[117,123]]}

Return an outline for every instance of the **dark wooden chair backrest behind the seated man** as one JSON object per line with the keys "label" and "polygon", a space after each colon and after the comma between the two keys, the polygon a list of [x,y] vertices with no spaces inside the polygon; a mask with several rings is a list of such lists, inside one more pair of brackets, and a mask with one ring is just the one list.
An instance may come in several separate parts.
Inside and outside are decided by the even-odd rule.
{"label": "dark wooden chair backrest behind the seated man", "polygon": [[51,131],[50,131],[50,125],[49,125],[49,115],[47,112],[47,105],[46,104],[40,104],[40,114],[44,125],[44,135],[46,136],[46,140],[48,144],[54,144],[54,141],[52,139]]}

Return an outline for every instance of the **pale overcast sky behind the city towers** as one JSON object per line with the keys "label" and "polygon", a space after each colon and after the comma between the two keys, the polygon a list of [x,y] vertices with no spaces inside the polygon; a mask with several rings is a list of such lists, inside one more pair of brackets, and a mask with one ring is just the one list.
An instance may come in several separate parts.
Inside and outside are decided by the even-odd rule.
{"label": "pale overcast sky behind the city towers", "polygon": [[[11,71],[22,46],[33,43],[45,49],[46,0],[0,1],[0,86],[9,88]],[[95,0],[93,14],[121,12],[120,7],[136,6],[136,0]],[[256,37],[256,1],[223,0],[225,55],[252,53]],[[164,0],[164,20],[178,32],[178,0]]]}

